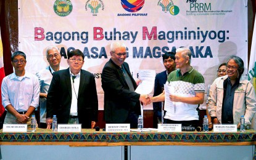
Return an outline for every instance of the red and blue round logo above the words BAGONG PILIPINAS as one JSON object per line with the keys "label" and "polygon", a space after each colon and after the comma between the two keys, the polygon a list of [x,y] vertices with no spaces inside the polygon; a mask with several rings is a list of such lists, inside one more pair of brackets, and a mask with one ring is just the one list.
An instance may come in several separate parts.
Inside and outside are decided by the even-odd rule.
{"label": "red and blue round logo above the words BAGONG PILIPINAS", "polygon": [[121,4],[128,12],[137,12],[144,6],[144,0],[121,0]]}

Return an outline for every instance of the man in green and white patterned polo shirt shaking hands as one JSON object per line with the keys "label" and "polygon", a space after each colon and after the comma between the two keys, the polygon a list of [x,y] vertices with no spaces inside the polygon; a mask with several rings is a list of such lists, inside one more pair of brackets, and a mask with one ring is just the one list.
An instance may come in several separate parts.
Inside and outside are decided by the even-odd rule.
{"label": "man in green and white patterned polo shirt shaking hands", "polygon": [[[180,47],[176,50],[175,63],[178,70],[168,75],[166,84],[174,90],[169,95],[171,102],[175,102],[173,110],[165,113],[164,123],[182,124],[182,126],[197,127],[199,114],[197,108],[204,103],[204,77],[191,64],[191,50]],[[151,102],[165,100],[165,92],[151,97]]]}

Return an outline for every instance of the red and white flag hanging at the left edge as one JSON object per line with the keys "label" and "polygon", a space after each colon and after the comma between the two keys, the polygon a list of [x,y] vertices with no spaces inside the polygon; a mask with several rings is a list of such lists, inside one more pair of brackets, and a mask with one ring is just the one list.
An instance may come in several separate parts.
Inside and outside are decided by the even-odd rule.
{"label": "red and white flag hanging at the left edge", "polygon": [[[2,84],[2,79],[4,78],[4,52],[2,49],[2,38],[1,38],[1,30],[0,30],[0,85]],[[0,90],[1,95],[1,90]],[[0,98],[0,117],[4,113],[4,106],[2,106],[2,97]]]}

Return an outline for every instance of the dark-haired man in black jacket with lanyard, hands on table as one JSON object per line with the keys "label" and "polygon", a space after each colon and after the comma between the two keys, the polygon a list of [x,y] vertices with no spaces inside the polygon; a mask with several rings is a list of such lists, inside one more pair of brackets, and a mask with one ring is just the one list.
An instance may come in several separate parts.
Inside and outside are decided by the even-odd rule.
{"label": "dark-haired man in black jacket with lanyard, hands on table", "polygon": [[81,70],[85,56],[80,50],[68,53],[67,70],[53,73],[47,95],[47,129],[52,116],[59,124],[80,123],[82,128],[93,128],[97,121],[97,92],[93,74]]}

